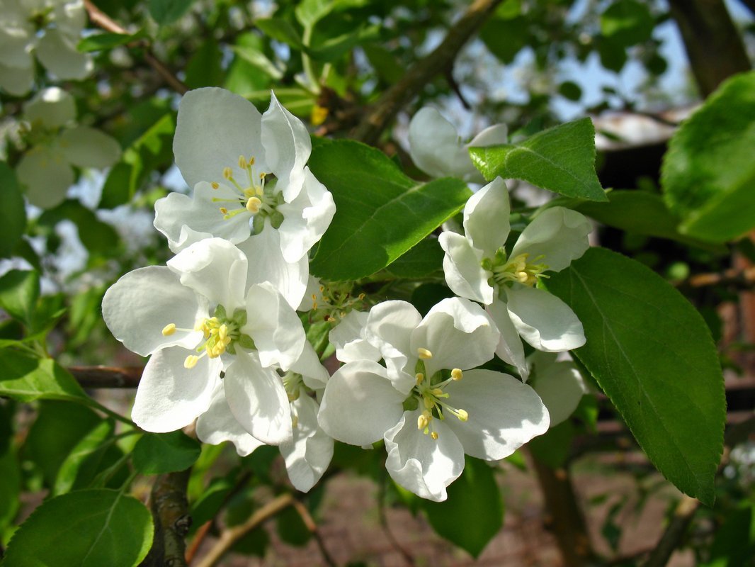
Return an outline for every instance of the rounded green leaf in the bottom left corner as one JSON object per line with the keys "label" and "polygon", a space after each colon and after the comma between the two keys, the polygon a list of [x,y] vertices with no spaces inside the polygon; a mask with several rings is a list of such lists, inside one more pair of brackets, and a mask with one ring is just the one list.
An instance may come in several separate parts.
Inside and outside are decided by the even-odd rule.
{"label": "rounded green leaf in the bottom left corner", "polygon": [[152,514],[120,491],[76,491],[45,500],[14,533],[5,565],[138,565],[152,546]]}

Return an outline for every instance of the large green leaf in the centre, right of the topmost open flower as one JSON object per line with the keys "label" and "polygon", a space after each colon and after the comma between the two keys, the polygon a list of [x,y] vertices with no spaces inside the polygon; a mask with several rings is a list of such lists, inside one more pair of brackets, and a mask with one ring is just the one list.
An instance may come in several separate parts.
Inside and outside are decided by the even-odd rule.
{"label": "large green leaf in the centre, right of the topmost open flower", "polygon": [[385,268],[470,197],[461,180],[418,183],[384,153],[355,141],[318,141],[309,166],[336,205],[310,266],[328,280],[356,280]]}

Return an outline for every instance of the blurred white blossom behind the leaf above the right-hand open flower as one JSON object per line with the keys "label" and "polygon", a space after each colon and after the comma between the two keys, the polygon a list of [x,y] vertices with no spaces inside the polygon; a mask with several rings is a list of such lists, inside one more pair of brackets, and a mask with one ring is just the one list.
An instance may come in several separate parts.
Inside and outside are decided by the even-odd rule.
{"label": "blurred white blossom behind the leaf above the right-hand open flower", "polygon": [[419,169],[431,177],[458,177],[464,181],[484,183],[469,154],[470,147],[506,144],[506,125],[490,126],[469,144],[462,144],[451,122],[431,107],[424,107],[409,122],[409,155]]}

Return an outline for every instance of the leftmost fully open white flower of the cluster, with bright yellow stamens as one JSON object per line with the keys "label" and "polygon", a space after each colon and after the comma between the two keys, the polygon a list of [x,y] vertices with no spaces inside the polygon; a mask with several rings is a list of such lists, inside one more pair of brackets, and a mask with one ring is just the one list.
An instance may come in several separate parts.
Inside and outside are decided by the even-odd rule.
{"label": "leftmost fully open white flower of the cluster, with bright yellow stamens", "polygon": [[239,249],[211,238],[107,290],[112,334],[152,355],[132,411],[138,426],[166,432],[192,423],[208,411],[223,370],[231,411],[248,432],[270,445],[291,439],[288,395],[274,367],[288,370],[300,358],[304,328],[270,283],[247,287],[246,274]]}

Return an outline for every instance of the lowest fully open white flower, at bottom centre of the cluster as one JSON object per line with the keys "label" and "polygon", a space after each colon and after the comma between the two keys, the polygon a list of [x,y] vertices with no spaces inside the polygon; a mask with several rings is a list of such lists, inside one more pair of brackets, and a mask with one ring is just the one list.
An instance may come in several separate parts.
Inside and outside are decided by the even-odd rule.
{"label": "lowest fully open white flower, at bottom centre of the cluster", "polygon": [[411,304],[388,301],[371,309],[359,334],[379,355],[351,359],[331,376],[320,426],[352,445],[383,438],[390,476],[414,494],[445,500],[465,453],[502,459],[547,430],[547,409],[532,388],[507,374],[469,370],[490,360],[498,344],[479,305],[444,299],[422,318]]}

